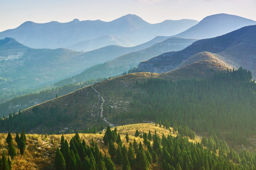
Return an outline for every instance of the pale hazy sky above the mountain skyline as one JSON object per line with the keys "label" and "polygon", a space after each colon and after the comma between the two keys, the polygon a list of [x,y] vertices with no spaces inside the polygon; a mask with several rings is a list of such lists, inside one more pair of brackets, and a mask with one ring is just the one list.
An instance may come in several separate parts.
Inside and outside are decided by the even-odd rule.
{"label": "pale hazy sky above the mountain skyline", "polygon": [[227,13],[256,20],[256,0],[0,0],[0,31],[25,21],[111,21],[136,14],[149,23]]}

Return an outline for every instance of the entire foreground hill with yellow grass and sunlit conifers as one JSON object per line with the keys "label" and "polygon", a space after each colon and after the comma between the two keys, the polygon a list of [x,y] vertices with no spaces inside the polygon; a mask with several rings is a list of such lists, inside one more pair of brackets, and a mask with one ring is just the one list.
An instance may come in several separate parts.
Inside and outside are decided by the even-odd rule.
{"label": "entire foreground hill with yellow grass and sunlit conifers", "polygon": [[[19,135],[18,135],[19,136]],[[255,154],[235,152],[213,134],[157,124],[107,127],[97,134],[0,135],[1,170],[254,170]],[[8,143],[9,142],[9,143]],[[8,147],[9,145],[9,147]],[[11,147],[16,154],[10,152]],[[23,150],[22,150],[23,151]],[[12,159],[8,157],[12,156]]]}

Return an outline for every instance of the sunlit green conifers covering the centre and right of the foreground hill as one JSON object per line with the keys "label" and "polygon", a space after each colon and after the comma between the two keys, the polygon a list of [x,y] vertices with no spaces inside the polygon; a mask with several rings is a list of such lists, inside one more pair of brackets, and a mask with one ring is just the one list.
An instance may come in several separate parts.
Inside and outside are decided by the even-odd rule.
{"label": "sunlit green conifers covering the centre and right of the foreground hill", "polygon": [[[180,127],[182,129],[183,127]],[[143,144],[134,139],[123,144],[117,129],[107,127],[103,141],[108,154],[99,150],[91,140],[88,145],[75,134],[69,144],[64,136],[55,156],[56,170],[254,170],[256,155],[248,152],[236,153],[225,141],[216,135],[201,143],[189,142],[188,136],[165,136],[136,131],[135,136],[143,138]],[[180,133],[180,132],[179,132]],[[129,144],[128,144],[129,143]],[[127,147],[128,145],[128,147]]]}

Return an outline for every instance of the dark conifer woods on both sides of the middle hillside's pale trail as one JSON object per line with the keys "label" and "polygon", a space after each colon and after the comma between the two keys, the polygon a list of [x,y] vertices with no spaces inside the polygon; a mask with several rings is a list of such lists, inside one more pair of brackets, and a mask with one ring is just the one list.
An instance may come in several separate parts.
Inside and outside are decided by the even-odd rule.
{"label": "dark conifer woods on both sides of the middle hillside's pale trail", "polygon": [[[147,79],[137,82],[133,90],[124,91],[124,97],[132,98],[128,111],[108,110],[109,117],[112,117],[110,123],[122,121],[125,124],[126,120],[132,119],[135,122],[154,121],[175,129],[177,125],[183,125],[200,134],[216,134],[232,144],[249,144],[248,137],[256,132],[256,83],[251,79],[250,71],[239,68],[216,73],[210,79],[176,82]],[[58,107],[36,106],[33,114],[21,112],[1,119],[0,129],[15,132],[42,124],[51,127],[57,123],[70,123],[77,117],[77,111],[64,114],[67,110],[60,110]],[[33,121],[27,121],[30,119]],[[82,119],[87,121],[84,117]],[[101,123],[99,118],[97,129],[83,129],[97,132]]]}

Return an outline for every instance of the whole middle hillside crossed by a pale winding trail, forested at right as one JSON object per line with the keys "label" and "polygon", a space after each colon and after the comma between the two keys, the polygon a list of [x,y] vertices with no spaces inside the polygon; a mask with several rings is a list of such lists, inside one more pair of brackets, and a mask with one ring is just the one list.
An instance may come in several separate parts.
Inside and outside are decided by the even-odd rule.
{"label": "whole middle hillside crossed by a pale winding trail, forested at right", "polygon": [[[144,80],[132,78],[135,75],[139,74],[103,81],[21,111],[0,120],[0,129],[37,132],[40,127],[45,133],[67,133],[102,122],[156,121],[165,127],[186,125],[200,134],[216,133],[232,144],[250,144],[247,139],[256,126],[256,83],[250,71],[239,68],[210,79],[175,82],[145,79],[146,75]],[[159,77],[148,77],[153,76]]]}

